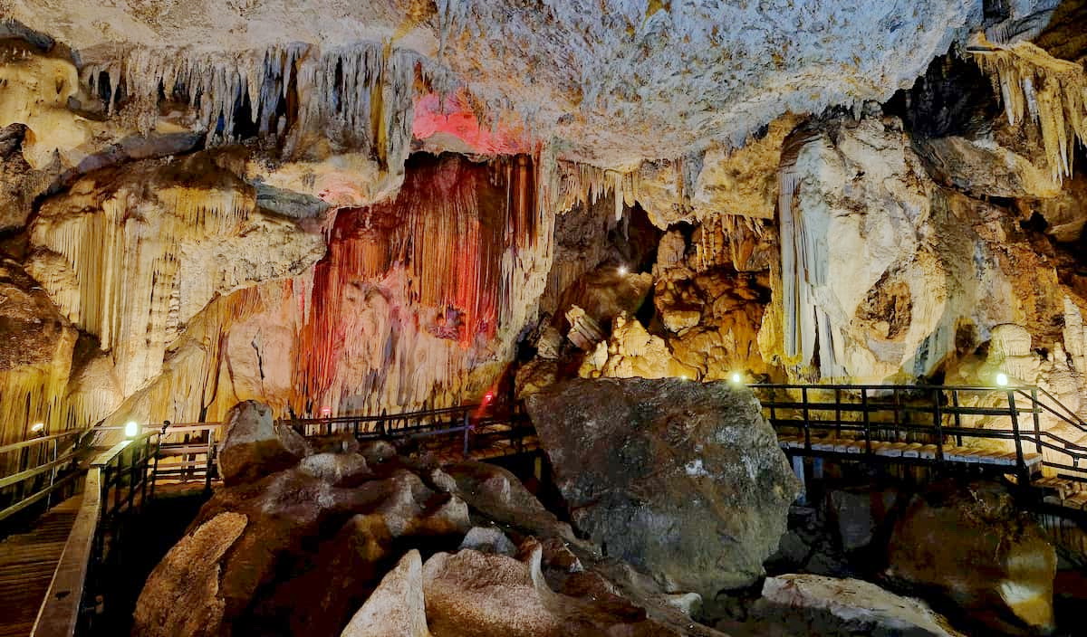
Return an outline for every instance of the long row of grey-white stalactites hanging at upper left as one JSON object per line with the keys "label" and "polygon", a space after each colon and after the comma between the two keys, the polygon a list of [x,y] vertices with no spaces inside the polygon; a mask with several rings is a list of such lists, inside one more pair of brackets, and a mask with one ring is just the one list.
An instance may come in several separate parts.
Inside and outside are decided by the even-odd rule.
{"label": "long row of grey-white stalactites hanging at upper left", "polygon": [[145,131],[154,128],[162,99],[178,100],[193,109],[193,125],[211,143],[236,140],[236,124],[248,113],[285,155],[304,154],[323,138],[336,151],[371,153],[393,171],[410,151],[415,99],[432,90],[446,95],[458,86],[445,67],[417,53],[372,41],[236,53],[129,48],[87,61],[80,76],[92,93],[104,95],[110,112],[123,88],[126,100],[138,104]]}

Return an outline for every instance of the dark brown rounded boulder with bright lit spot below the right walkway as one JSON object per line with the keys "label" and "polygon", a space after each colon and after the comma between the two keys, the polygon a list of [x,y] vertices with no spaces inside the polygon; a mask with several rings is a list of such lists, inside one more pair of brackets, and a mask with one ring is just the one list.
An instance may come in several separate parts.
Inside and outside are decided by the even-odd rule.
{"label": "dark brown rounded boulder with bright lit spot below the right walkway", "polygon": [[1055,551],[999,485],[942,483],[916,496],[888,560],[890,577],[941,594],[992,628],[1053,628]]}

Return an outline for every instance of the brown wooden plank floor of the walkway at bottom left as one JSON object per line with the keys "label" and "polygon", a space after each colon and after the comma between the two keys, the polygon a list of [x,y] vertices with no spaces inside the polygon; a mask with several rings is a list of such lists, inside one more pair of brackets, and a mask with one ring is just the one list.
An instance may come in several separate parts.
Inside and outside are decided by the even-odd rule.
{"label": "brown wooden plank floor of the walkway at bottom left", "polygon": [[68,498],[0,542],[0,637],[30,634],[82,501]]}

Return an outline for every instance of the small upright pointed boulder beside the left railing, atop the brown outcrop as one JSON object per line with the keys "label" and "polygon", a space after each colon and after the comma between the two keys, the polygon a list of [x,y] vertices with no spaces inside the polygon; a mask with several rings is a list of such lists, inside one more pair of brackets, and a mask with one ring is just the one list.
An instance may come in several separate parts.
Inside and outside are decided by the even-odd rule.
{"label": "small upright pointed boulder beside the left railing, atop the brown outcrop", "polygon": [[218,451],[218,470],[226,485],[252,482],[283,471],[307,456],[301,435],[272,419],[272,409],[255,400],[239,403],[226,417],[226,437]]}

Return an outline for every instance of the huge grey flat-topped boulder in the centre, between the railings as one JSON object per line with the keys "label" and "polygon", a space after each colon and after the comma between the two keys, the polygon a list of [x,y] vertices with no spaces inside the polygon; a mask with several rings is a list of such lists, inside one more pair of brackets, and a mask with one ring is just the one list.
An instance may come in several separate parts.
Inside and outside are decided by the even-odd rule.
{"label": "huge grey flat-topped boulder in the centre, between the railings", "polygon": [[669,591],[753,583],[799,485],[750,391],[576,379],[527,398],[574,523]]}

